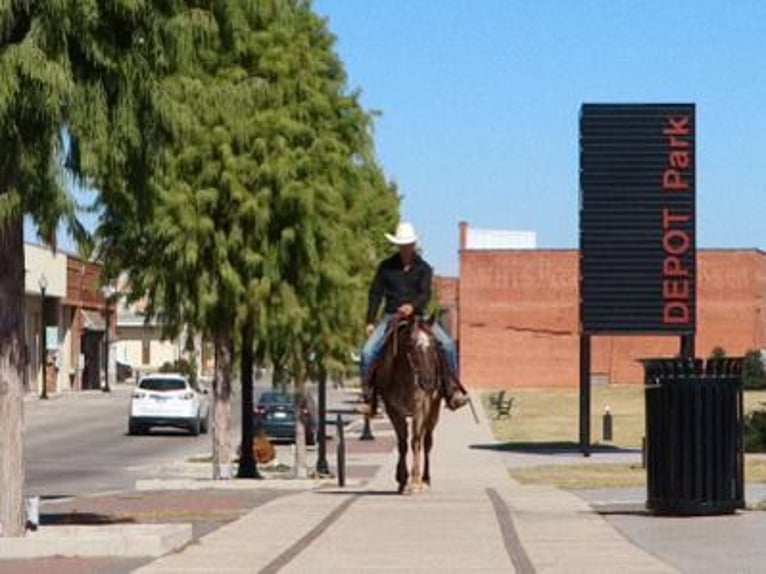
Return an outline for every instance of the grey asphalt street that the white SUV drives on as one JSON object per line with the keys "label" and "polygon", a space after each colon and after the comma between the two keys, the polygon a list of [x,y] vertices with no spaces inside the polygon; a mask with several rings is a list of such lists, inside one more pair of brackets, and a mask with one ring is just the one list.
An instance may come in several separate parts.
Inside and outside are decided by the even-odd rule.
{"label": "grey asphalt street that the white SUV drives on", "polygon": [[[165,464],[211,451],[210,435],[155,429],[129,436],[132,385],[48,401],[28,398],[25,410],[26,491],[45,497],[132,489]],[[239,429],[239,403],[233,405]]]}

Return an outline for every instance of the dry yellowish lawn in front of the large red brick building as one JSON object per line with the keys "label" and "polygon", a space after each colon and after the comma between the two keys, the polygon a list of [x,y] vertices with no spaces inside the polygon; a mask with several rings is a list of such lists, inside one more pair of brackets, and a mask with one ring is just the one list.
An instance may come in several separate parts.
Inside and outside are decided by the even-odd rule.
{"label": "dry yellowish lawn in front of the large red brick building", "polygon": [[[579,444],[579,391],[576,389],[513,389],[510,418],[494,420],[490,393],[482,395],[495,438],[510,443]],[[766,391],[745,391],[745,410],[764,408]],[[641,385],[595,387],[591,393],[591,440],[601,443],[602,415],[609,406],[616,448],[640,448],[644,436],[644,389]]]}

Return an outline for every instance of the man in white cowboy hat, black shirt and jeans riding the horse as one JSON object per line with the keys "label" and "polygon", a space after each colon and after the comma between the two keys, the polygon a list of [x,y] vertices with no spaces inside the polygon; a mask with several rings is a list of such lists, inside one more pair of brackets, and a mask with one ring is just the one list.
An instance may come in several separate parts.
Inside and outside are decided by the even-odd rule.
{"label": "man in white cowboy hat, black shirt and jeans riding the horse", "polygon": [[[364,414],[374,414],[376,390],[372,381],[373,370],[375,362],[383,351],[392,318],[397,315],[420,317],[431,300],[433,271],[415,249],[418,240],[415,228],[411,223],[401,222],[397,226],[396,234],[386,233],[386,238],[390,243],[398,246],[399,252],[380,263],[370,287],[367,308],[368,338],[361,355],[364,404],[360,407],[360,411]],[[383,299],[385,299],[383,317],[376,324],[375,318]],[[457,378],[455,342],[438,322],[434,322],[429,330],[445,354],[448,366],[448,372],[441,381],[442,396],[450,409],[458,409],[468,402],[468,396]]]}

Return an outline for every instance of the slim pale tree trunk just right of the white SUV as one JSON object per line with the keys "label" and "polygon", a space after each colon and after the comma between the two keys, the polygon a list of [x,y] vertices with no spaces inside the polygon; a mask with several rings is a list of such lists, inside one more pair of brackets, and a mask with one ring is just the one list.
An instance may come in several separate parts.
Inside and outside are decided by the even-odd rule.
{"label": "slim pale tree trunk just right of the white SUV", "polygon": [[234,340],[222,328],[215,335],[213,380],[213,479],[231,478],[231,372]]}

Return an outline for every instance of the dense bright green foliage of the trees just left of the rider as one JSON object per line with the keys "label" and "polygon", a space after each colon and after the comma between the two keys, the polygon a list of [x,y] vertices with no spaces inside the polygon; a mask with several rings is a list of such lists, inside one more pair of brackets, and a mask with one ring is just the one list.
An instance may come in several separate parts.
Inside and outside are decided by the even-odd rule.
{"label": "dense bright green foliage of the trees just left of the rider", "polygon": [[[310,352],[343,369],[397,220],[371,114],[309,3],[205,8],[149,19],[144,49],[163,57],[124,64],[135,95],[79,146],[99,166],[110,272],[128,272],[166,334],[253,321],[277,373],[303,380]],[[78,109],[108,94],[94,81]]]}

